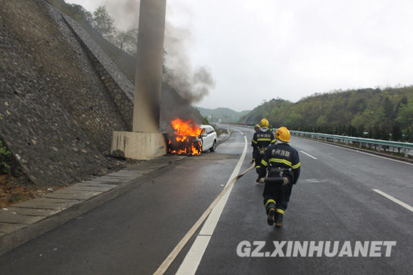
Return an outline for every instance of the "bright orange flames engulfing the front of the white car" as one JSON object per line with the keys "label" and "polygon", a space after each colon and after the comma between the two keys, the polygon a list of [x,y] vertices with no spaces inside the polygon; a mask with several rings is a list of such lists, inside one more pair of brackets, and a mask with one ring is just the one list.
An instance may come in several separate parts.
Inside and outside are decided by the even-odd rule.
{"label": "bright orange flames engulfing the front of the white car", "polygon": [[[176,118],[171,122],[175,132],[176,142],[173,142],[179,149],[169,148],[170,153],[177,153],[178,155],[200,155],[201,154],[201,143],[199,141],[192,142],[188,137],[198,137],[200,136],[202,129],[198,127],[195,122],[191,120],[183,121],[180,118]],[[171,144],[169,140],[169,144]]]}

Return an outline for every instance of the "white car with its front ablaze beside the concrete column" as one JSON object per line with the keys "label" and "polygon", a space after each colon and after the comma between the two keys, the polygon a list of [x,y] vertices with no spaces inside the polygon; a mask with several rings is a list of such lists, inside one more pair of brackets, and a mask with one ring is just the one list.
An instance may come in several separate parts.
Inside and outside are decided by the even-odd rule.
{"label": "white car with its front ablaze beside the concrete column", "polygon": [[212,126],[200,125],[179,118],[171,122],[175,132],[169,137],[169,153],[200,155],[202,151],[215,151],[217,133]]}

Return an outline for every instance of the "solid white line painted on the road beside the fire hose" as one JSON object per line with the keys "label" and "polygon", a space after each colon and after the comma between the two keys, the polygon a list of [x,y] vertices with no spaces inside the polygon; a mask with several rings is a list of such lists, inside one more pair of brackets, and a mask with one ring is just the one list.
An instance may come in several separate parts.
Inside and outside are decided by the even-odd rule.
{"label": "solid white line painted on the road beside the fire hose", "polygon": [[[229,177],[229,181],[226,183],[226,186],[228,186],[231,183],[231,179],[235,178],[238,175],[238,173],[240,173],[240,168],[242,166],[242,162],[244,162],[247,148],[245,135],[244,140],[244,151],[242,152],[242,156],[238,160],[237,166],[235,166],[235,169],[233,170],[231,177]],[[232,188],[233,185],[226,191],[225,195],[220,199],[220,201],[211,211],[211,214],[209,214],[207,221],[205,221],[204,226],[202,226],[200,233],[196,237],[195,242],[191,246],[191,249],[189,250],[187,256],[185,256],[184,261],[182,261],[182,264],[176,272],[176,275],[195,274],[196,270],[198,269],[198,265],[200,265],[200,262],[202,260],[202,256],[204,255],[204,252],[207,249],[213,231],[215,230],[215,226],[217,225],[221,217],[222,210],[224,210],[226,201],[228,200]]]}

